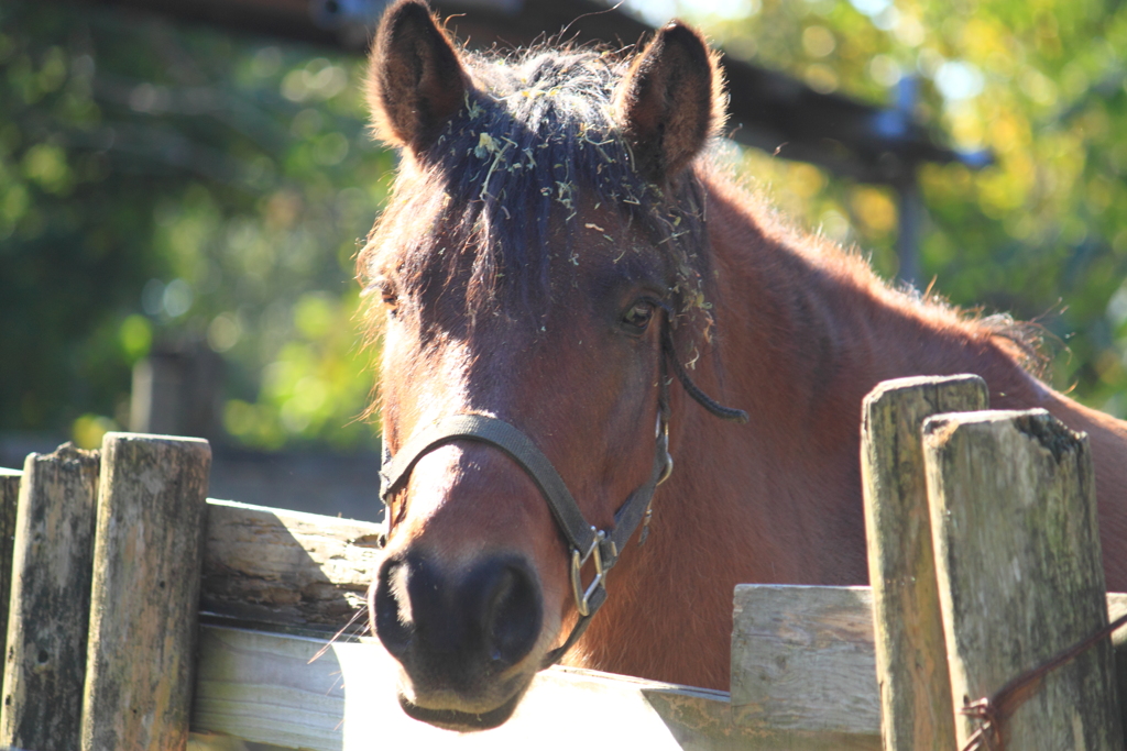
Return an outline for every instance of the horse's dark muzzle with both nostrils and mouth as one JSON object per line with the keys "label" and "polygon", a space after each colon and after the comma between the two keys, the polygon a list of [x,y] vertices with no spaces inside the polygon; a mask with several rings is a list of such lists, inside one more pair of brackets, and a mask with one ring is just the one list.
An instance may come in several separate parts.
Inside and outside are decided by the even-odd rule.
{"label": "horse's dark muzzle with both nostrils and mouth", "polygon": [[541,587],[517,554],[447,569],[411,549],[390,555],[371,593],[375,632],[399,661],[399,701],[415,719],[485,730],[513,714],[539,659]]}

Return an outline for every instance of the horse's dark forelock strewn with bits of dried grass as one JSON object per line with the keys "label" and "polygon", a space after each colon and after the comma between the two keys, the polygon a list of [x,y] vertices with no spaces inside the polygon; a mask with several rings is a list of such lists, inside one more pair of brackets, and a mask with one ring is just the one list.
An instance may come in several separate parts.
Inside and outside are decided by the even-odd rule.
{"label": "horse's dark forelock strewn with bits of dried grass", "polygon": [[[692,169],[656,186],[635,170],[611,100],[628,60],[531,50],[508,59],[463,53],[474,87],[436,143],[403,170],[369,238],[361,272],[396,253],[408,294],[470,268],[471,318],[539,321],[553,265],[583,263],[582,209],[613,208],[658,250],[678,313],[708,324],[703,191]],[[632,249],[629,238],[607,238]],[[470,258],[464,257],[465,253]]]}

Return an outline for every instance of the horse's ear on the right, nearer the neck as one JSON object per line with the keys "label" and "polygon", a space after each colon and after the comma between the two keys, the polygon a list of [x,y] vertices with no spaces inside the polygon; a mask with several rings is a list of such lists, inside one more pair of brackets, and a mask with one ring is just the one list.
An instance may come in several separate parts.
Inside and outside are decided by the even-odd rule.
{"label": "horse's ear on the right, nearer the neck", "polygon": [[615,95],[635,168],[660,182],[681,171],[724,119],[724,81],[693,29],[673,21],[630,65]]}

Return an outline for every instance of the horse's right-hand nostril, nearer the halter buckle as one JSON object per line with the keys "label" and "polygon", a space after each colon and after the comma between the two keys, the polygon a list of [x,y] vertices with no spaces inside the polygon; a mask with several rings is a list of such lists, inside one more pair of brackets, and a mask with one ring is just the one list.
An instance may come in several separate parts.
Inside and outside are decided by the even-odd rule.
{"label": "horse's right-hand nostril, nearer the halter buckle", "polygon": [[[478,570],[486,655],[497,668],[520,662],[540,636],[540,588],[521,561],[490,562]],[[477,578],[477,576],[474,576]]]}

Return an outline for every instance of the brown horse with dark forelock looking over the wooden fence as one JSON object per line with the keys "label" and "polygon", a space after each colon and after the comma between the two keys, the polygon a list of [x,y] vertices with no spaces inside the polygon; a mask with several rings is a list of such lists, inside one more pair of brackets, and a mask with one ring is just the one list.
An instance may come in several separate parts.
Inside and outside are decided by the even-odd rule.
{"label": "brown horse with dark forelock looking over the wooden fence", "polygon": [[[722,83],[693,30],[633,57],[478,56],[408,0],[382,21],[369,99],[402,152],[360,259],[396,457],[371,615],[411,716],[504,722],[601,600],[583,597],[589,562],[573,591],[591,547],[618,565],[565,660],[727,688],[737,582],[867,580],[861,400],[898,376],[977,373],[994,406],[1088,431],[1107,581],[1127,589],[1127,424],[1029,375],[1020,327],[890,288],[722,175],[702,155]],[[635,531],[666,430],[675,470]],[[567,491],[606,539],[545,500]]]}

